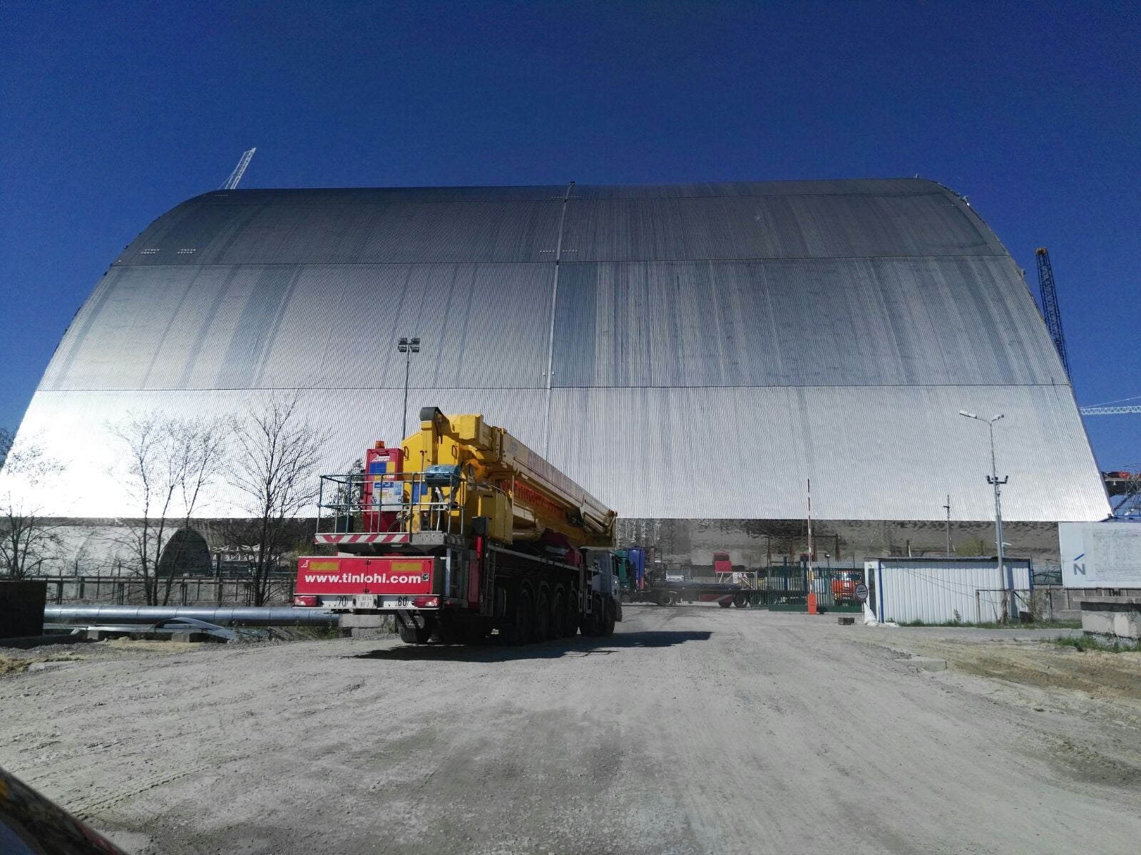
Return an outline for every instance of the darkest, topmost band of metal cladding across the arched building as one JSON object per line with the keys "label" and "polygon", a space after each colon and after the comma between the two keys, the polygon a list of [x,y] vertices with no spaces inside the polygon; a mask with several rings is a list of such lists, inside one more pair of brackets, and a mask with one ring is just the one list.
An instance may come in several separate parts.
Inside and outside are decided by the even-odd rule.
{"label": "darkest, topmost band of metal cladding across the arched building", "polygon": [[[116,263],[543,260],[564,189],[219,190],[156,220]],[[566,261],[1004,252],[961,199],[922,180],[576,187],[573,197]]]}

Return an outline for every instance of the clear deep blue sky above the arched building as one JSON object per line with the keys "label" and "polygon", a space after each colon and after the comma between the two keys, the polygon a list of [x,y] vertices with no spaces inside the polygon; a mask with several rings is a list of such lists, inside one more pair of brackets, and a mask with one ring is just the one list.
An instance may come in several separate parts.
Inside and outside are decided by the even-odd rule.
{"label": "clear deep blue sky above the arched building", "polygon": [[[115,254],[243,186],[913,176],[1035,285],[1078,401],[1141,396],[1133,3],[0,5],[0,425]],[[1141,416],[1086,421],[1103,469]]]}

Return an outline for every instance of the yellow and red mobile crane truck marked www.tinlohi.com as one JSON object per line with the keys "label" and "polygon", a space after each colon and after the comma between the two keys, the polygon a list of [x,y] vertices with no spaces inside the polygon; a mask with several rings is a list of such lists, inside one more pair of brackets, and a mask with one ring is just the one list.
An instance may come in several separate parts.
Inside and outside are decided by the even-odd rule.
{"label": "yellow and red mobile crane truck marked www.tinlohi.com", "polygon": [[615,512],[482,415],[422,409],[400,448],[323,475],[317,504],[337,554],[298,559],[293,602],[342,627],[394,614],[408,644],[526,644],[622,620]]}

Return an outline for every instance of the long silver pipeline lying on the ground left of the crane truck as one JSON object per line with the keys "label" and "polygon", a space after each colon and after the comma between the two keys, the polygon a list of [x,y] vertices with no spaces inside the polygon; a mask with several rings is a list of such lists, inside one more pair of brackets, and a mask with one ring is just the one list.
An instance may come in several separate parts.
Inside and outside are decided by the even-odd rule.
{"label": "long silver pipeline lying on the ground left of the crane truck", "polygon": [[209,605],[46,605],[49,624],[154,624],[169,618],[195,618],[209,624],[246,626],[314,626],[337,624],[339,618],[324,609],[262,605],[216,609]]}

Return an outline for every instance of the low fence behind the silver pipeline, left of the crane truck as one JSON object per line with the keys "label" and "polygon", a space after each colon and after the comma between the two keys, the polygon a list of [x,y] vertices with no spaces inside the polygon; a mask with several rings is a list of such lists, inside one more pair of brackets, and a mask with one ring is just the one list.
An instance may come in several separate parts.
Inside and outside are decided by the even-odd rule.
{"label": "low fence behind the silver pipeline, left of the crane truck", "polygon": [[[48,601],[90,603],[92,605],[146,605],[143,580],[122,576],[49,577]],[[296,577],[274,576],[268,581],[266,605],[293,603]],[[159,580],[159,602],[167,592],[167,580]],[[168,605],[253,605],[253,579],[249,577],[177,577],[170,586]]]}

